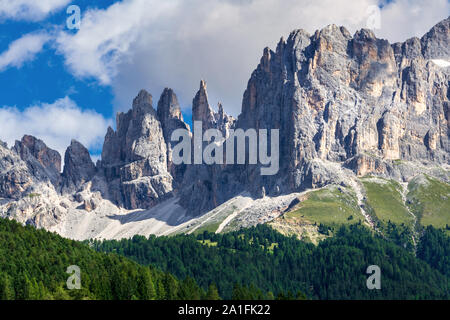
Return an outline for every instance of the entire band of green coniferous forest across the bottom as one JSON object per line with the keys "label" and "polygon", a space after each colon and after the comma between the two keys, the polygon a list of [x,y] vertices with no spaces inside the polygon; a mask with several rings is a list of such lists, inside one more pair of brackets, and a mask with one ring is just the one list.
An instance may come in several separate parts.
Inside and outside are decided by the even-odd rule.
{"label": "entire band of green coniferous forest across the bottom", "polygon": [[[315,246],[260,225],[174,237],[78,242],[0,219],[0,299],[448,299],[450,239],[424,230],[417,252],[360,225]],[[68,290],[79,266],[81,289]],[[369,265],[381,290],[366,286]]]}

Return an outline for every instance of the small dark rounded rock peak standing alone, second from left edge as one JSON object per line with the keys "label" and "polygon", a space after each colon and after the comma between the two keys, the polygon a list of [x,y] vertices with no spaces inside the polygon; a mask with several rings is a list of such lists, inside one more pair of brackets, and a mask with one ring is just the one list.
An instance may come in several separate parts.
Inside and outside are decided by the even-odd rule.
{"label": "small dark rounded rock peak standing alone, second from left edge", "polygon": [[62,190],[65,193],[77,191],[90,181],[96,173],[89,151],[78,141],[72,140],[64,155]]}

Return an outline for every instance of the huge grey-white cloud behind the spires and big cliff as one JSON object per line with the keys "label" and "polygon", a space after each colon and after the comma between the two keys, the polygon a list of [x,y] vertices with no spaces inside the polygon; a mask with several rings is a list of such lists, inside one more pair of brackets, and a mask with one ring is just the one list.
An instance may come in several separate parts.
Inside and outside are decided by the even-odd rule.
{"label": "huge grey-white cloud behind the spires and big cliff", "polygon": [[[381,0],[124,0],[84,13],[81,30],[62,31],[58,50],[72,72],[112,85],[116,107],[129,107],[141,88],[158,98],[166,86],[188,107],[200,79],[210,102],[237,115],[243,91],[266,46],[298,28],[366,27],[368,7]],[[446,0],[396,0],[381,10],[378,36],[422,36],[446,18]]]}

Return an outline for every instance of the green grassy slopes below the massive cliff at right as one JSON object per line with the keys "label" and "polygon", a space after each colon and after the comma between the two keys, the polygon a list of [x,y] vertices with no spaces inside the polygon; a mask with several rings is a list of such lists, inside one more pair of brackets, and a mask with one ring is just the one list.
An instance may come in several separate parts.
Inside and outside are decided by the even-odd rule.
{"label": "green grassy slopes below the massive cliff at right", "polygon": [[[364,177],[361,182],[366,193],[366,211],[381,222],[382,228],[386,228],[390,221],[395,225],[403,225],[399,232],[412,232],[415,223],[411,213],[416,215],[420,226],[433,225],[445,229],[450,225],[448,183],[429,176],[416,177],[408,185],[405,203],[402,186],[394,180]],[[350,216],[353,219],[349,220]],[[308,193],[300,204],[270,225],[283,234],[296,234],[300,239],[309,238],[317,243],[325,236],[318,233],[316,225],[336,227],[360,220],[364,221],[353,191],[329,186]],[[450,230],[446,230],[446,233],[450,235]]]}

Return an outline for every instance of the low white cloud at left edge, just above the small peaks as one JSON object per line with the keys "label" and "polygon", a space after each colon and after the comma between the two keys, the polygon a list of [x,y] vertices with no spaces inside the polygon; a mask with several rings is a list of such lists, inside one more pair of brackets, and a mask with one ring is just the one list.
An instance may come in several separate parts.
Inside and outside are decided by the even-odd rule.
{"label": "low white cloud at left edge, just above the small peaks", "polygon": [[71,139],[91,150],[101,148],[108,125],[112,121],[92,110],[81,110],[70,98],[42,103],[20,111],[15,107],[0,108],[0,139],[13,145],[23,135],[43,140],[62,156]]}

